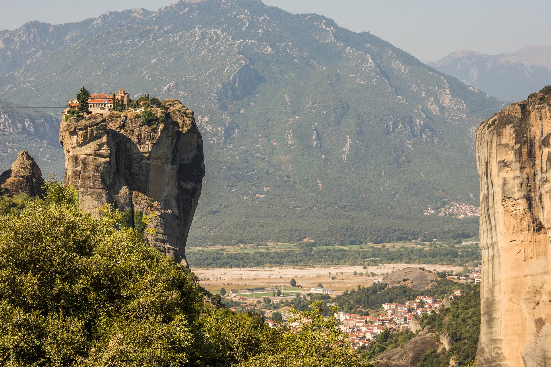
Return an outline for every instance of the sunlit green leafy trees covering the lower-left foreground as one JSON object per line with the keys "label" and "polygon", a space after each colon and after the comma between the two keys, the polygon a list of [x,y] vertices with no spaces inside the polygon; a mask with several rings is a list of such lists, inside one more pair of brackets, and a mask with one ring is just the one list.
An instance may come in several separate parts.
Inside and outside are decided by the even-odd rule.
{"label": "sunlit green leafy trees covering the lower-left foreground", "polygon": [[74,189],[46,186],[45,200],[0,217],[2,365],[260,365],[301,349],[319,351],[320,365],[357,365],[337,330],[295,336],[204,303],[193,273],[121,226],[122,213],[106,205],[95,219],[78,210]]}

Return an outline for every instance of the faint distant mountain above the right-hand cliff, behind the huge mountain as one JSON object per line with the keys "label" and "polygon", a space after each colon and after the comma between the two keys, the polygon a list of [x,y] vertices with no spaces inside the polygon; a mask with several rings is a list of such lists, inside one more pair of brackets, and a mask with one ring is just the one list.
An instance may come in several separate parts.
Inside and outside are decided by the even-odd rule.
{"label": "faint distant mountain above the right-hand cliff, behind the huge mountain", "polygon": [[551,84],[551,46],[527,46],[498,55],[458,50],[428,64],[501,101],[523,100]]}

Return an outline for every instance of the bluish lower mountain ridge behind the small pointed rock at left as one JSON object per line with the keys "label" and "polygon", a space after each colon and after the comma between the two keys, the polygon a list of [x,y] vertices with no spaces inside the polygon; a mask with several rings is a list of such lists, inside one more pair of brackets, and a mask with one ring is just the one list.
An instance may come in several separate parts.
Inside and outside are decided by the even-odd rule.
{"label": "bluish lower mountain ridge behind the small pointed rock at left", "polygon": [[[50,111],[50,109],[44,109]],[[0,99],[0,167],[8,169],[20,151],[28,150],[43,173],[63,178],[64,155],[57,116]]]}

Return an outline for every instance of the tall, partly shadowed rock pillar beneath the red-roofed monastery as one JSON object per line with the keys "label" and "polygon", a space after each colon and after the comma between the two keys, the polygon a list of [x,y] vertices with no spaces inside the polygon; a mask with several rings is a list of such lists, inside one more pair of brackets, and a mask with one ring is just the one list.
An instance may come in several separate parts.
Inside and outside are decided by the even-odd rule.
{"label": "tall, partly shadowed rock pillar beneath the red-roofed monastery", "polygon": [[125,222],[153,214],[150,245],[187,266],[185,246],[204,176],[203,140],[193,112],[177,100],[168,111],[142,124],[137,113],[103,112],[60,127],[65,150],[63,184],[73,185],[80,207],[98,216],[106,203],[125,213]]}

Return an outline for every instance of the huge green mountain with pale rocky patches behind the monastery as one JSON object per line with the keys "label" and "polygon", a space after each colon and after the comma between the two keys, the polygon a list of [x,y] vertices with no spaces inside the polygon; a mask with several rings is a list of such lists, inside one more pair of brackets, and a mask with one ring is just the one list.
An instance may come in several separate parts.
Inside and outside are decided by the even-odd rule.
{"label": "huge green mountain with pale rocky patches behind the monastery", "polygon": [[476,218],[420,212],[478,202],[473,133],[502,107],[494,97],[368,32],[256,0],[87,22],[35,25],[81,38],[9,71],[0,97],[63,105],[84,84],[193,109],[207,173],[188,245],[477,233]]}

